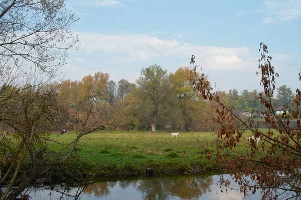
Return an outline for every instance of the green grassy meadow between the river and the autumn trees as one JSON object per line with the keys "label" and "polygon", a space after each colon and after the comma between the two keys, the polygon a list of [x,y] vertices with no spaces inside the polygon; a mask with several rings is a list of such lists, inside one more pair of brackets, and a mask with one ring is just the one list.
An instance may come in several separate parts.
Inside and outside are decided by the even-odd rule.
{"label": "green grassy meadow between the river and the autumn trees", "polygon": [[[51,139],[68,144],[75,137],[70,132],[54,134]],[[204,158],[202,145],[212,139],[211,132],[181,132],[177,138],[171,133],[93,132],[83,136],[76,147],[80,161],[70,161],[71,167],[64,171],[91,176],[139,175],[146,167],[154,168],[156,174],[204,172],[219,167],[214,159]],[[242,139],[240,144],[245,147],[247,141]],[[61,146],[52,143],[50,149],[59,151]]]}

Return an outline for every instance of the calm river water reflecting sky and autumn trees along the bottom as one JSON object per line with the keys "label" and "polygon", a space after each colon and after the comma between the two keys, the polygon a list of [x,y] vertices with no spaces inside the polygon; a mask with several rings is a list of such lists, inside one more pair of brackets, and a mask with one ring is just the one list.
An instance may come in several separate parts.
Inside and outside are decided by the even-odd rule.
{"label": "calm river water reflecting sky and autumn trees along the bottom", "polygon": [[[244,199],[237,190],[221,192],[218,175],[95,182],[79,187],[35,188],[31,199]],[[47,189],[45,189],[47,188]],[[261,199],[260,192],[246,199]]]}

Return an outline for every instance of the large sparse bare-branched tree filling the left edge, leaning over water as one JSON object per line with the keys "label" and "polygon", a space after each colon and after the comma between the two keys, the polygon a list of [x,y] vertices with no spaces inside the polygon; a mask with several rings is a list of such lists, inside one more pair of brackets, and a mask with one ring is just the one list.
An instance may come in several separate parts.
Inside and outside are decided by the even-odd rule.
{"label": "large sparse bare-branched tree filling the left edge, leaning over water", "polygon": [[[11,135],[0,141],[1,200],[16,199],[29,184],[69,159],[83,135],[104,127],[99,121],[90,123],[95,104],[89,104],[75,139],[58,153],[47,148],[55,127],[68,123],[59,85],[47,83],[65,64],[66,50],[76,47],[78,39],[69,30],[76,20],[64,0],[0,3],[0,123]],[[69,103],[77,105],[74,98]]]}

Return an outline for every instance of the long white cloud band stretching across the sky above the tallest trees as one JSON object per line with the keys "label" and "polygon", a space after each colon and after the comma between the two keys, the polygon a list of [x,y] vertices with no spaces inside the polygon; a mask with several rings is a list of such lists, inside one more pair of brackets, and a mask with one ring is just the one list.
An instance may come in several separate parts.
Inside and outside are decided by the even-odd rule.
{"label": "long white cloud band stretching across the sky above the tallest trees", "polygon": [[81,46],[86,52],[112,54],[108,64],[134,63],[155,58],[176,57],[189,58],[196,55],[199,62],[209,69],[243,69],[248,63],[249,49],[246,47],[225,48],[201,46],[161,40],[148,35],[105,35],[88,32],[77,32]]}

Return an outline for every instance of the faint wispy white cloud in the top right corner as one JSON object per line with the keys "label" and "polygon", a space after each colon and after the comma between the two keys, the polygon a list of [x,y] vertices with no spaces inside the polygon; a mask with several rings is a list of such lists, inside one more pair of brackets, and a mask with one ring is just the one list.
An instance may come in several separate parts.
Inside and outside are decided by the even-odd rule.
{"label": "faint wispy white cloud in the top right corner", "polygon": [[263,23],[279,24],[279,22],[294,20],[301,17],[301,1],[300,0],[265,1],[265,11],[269,14],[269,16],[262,21]]}

